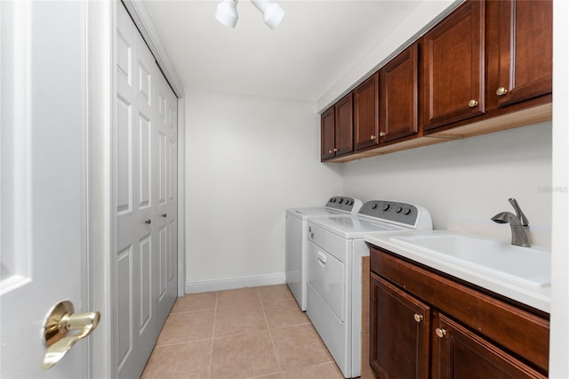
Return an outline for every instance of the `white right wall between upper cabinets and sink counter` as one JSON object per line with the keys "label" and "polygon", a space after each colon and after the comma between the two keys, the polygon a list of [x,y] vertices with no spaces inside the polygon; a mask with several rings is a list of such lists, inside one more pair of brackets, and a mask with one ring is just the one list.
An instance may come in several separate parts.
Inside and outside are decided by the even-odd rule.
{"label": "white right wall between upper cabinets and sink counter", "polygon": [[508,198],[533,227],[550,228],[551,123],[349,162],[343,179],[358,198],[425,206],[436,229],[449,219],[493,224],[494,214],[513,211]]}

